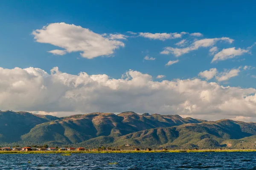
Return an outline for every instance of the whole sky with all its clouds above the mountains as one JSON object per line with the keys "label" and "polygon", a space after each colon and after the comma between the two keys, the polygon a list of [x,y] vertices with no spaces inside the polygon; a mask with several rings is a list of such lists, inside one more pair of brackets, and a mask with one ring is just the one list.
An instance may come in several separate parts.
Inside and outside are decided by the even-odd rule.
{"label": "whole sky with all its clouds above the mountains", "polygon": [[256,121],[255,7],[0,1],[0,109]]}

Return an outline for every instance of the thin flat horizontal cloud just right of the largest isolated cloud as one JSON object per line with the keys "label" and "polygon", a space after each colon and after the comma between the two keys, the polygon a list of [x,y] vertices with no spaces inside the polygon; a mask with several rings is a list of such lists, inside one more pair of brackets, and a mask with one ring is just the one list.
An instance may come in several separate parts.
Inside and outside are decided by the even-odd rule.
{"label": "thin flat horizontal cloud just right of the largest isolated cloud", "polygon": [[139,33],[140,37],[145,37],[145,38],[149,38],[152,40],[167,40],[167,39],[175,39],[175,38],[181,38],[181,34],[178,33],[149,33],[149,32],[140,32]]}

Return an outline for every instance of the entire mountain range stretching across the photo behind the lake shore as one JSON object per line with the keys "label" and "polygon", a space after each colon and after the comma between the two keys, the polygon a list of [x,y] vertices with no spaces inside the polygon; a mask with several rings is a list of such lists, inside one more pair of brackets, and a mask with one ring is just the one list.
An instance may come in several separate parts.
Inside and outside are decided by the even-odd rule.
{"label": "entire mountain range stretching across the photo behind the lake shore", "polygon": [[90,148],[256,148],[256,123],[134,112],[55,117],[0,111],[0,144]]}

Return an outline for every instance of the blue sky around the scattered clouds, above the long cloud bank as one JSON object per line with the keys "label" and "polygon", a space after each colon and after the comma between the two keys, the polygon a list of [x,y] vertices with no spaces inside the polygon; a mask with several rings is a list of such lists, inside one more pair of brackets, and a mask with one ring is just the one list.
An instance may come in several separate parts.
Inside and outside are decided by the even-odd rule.
{"label": "blue sky around the scattered clouds, above the long cloud bank", "polygon": [[[3,0],[0,1],[0,67],[40,68],[48,74],[52,68],[58,67],[61,72],[71,75],[78,75],[82,71],[89,75],[106,74],[114,79],[120,79],[122,74],[131,69],[151,75],[153,81],[199,78],[202,81],[217,82],[218,85],[256,88],[256,47],[252,46],[256,42],[255,6],[254,1],[243,3],[236,0],[232,3],[220,0]],[[38,32],[32,33],[54,23],[65,23],[68,26],[73,24],[74,29],[76,26],[89,29],[111,43],[119,43],[118,48],[112,50],[113,54],[106,53],[90,59],[81,56],[81,50],[75,51],[73,47],[67,47],[72,48],[70,52],[67,48],[61,48],[61,45],[52,45],[47,37],[40,37]],[[181,32],[186,34],[164,40],[140,34],[157,36],[155,33]],[[193,36],[191,33],[201,33],[202,36]],[[61,33],[60,36],[65,34],[69,32]],[[126,37],[111,40],[110,34]],[[227,37],[232,42],[216,40],[207,47],[199,47],[180,56],[175,55],[172,50],[169,54],[160,54],[166,47],[176,50],[193,48],[193,43],[198,40],[221,37]],[[186,40],[186,43],[175,45],[181,40]],[[217,51],[211,55],[209,50],[213,47]],[[66,54],[54,55],[47,52],[55,49],[66,50]],[[228,49],[224,54],[231,57],[212,62],[218,53],[218,56],[223,57],[223,49]],[[146,60],[146,56],[154,59]],[[166,66],[169,61],[177,60],[177,63]],[[206,72],[200,74],[211,68],[215,69],[215,72],[211,72],[214,76]],[[202,76],[206,74],[208,78]],[[157,79],[158,75],[165,77]],[[225,75],[228,77],[223,77]]]}

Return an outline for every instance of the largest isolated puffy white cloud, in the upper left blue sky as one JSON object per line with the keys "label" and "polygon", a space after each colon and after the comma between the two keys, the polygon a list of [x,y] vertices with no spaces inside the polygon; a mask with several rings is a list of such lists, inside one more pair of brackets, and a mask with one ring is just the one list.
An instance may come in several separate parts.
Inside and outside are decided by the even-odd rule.
{"label": "largest isolated puffy white cloud, in the upper left blue sky", "polygon": [[[32,32],[36,42],[64,48],[68,53],[81,51],[81,56],[92,59],[113,54],[124,43],[110,40],[87,28],[66,23],[51,23]],[[57,53],[55,53],[57,54]]]}

